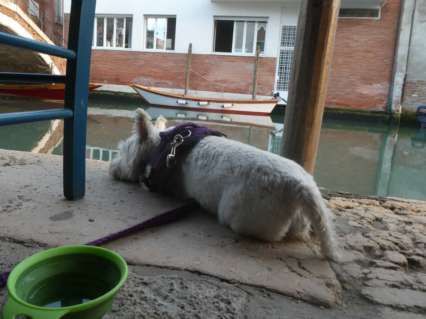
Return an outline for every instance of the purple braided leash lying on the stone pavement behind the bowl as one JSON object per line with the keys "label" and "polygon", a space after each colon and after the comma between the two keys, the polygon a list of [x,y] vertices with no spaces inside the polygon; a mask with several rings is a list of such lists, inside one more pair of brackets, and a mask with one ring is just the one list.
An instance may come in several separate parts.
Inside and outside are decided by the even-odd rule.
{"label": "purple braided leash lying on the stone pavement behind the bowl", "polygon": [[[198,205],[195,199],[188,199],[188,201],[184,205],[181,205],[178,208],[172,209],[171,211],[166,211],[165,213],[154,216],[150,219],[145,220],[144,222],[140,222],[139,224],[136,224],[132,227],[123,229],[122,231],[118,231],[117,233],[105,236],[101,239],[94,240],[93,242],[88,242],[86,245],[101,246],[108,242],[112,242],[115,239],[123,238],[128,235],[134,234],[137,231],[143,231],[148,228],[153,228],[156,226],[167,224],[169,222],[173,222],[176,219],[187,215],[192,209],[195,209],[197,206]],[[4,287],[6,285],[9,273],[10,271],[0,273],[0,287]]]}

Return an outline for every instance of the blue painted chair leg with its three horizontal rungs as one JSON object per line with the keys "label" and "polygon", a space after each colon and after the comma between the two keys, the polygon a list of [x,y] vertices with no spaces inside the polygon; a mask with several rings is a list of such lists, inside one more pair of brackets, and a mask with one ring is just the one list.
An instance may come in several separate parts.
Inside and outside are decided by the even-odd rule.
{"label": "blue painted chair leg with its three horizontal rungs", "polygon": [[0,43],[67,59],[66,76],[0,73],[3,81],[65,83],[63,109],[0,114],[0,126],[64,119],[63,194],[70,200],[82,198],[85,193],[86,117],[95,5],[96,0],[72,0],[68,49],[0,31]]}

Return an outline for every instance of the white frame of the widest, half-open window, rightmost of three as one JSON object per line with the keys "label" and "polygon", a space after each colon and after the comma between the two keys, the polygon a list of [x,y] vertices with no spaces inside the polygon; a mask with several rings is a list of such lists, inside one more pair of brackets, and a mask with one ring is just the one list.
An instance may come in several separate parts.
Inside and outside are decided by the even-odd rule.
{"label": "white frame of the widest, half-open window, rightmost of three", "polygon": [[[230,20],[234,22],[233,27],[233,34],[232,34],[232,47],[231,52],[219,52],[214,51],[216,47],[216,21],[217,20]],[[245,43],[245,40],[247,39],[247,23],[254,21],[254,34],[255,38],[253,39],[253,53],[245,53],[245,52],[235,52],[234,46],[235,46],[235,33],[236,33],[236,23],[237,22],[244,22],[244,28],[243,28],[243,38],[242,43]],[[259,56],[265,57],[266,56],[266,43],[268,38],[268,17],[236,17],[236,16],[230,16],[230,17],[224,17],[224,16],[213,16],[213,41],[212,41],[212,48],[211,48],[211,54],[217,54],[217,55],[232,55],[232,56],[239,56],[239,57],[254,57],[256,55],[256,45],[257,45],[257,28],[259,27],[259,22],[266,22],[266,30],[265,30],[265,44],[264,44],[264,51],[263,53],[260,53]],[[257,30],[257,31],[256,31]],[[242,48],[242,51],[245,51],[244,48]]]}

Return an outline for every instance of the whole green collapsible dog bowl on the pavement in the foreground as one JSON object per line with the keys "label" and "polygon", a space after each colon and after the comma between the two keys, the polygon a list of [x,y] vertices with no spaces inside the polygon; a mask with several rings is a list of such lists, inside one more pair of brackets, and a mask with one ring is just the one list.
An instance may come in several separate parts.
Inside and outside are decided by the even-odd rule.
{"label": "whole green collapsible dog bowl on the pavement in the foreground", "polygon": [[101,319],[127,277],[121,256],[95,246],[48,249],[10,273],[3,319]]}

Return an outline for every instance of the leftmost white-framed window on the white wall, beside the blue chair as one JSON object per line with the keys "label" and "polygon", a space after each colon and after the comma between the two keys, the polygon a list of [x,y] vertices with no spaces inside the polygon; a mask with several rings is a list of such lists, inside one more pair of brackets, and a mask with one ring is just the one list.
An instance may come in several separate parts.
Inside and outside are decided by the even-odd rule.
{"label": "leftmost white-framed window on the white wall, beside the blue chair", "polygon": [[93,47],[132,48],[133,17],[95,17]]}

